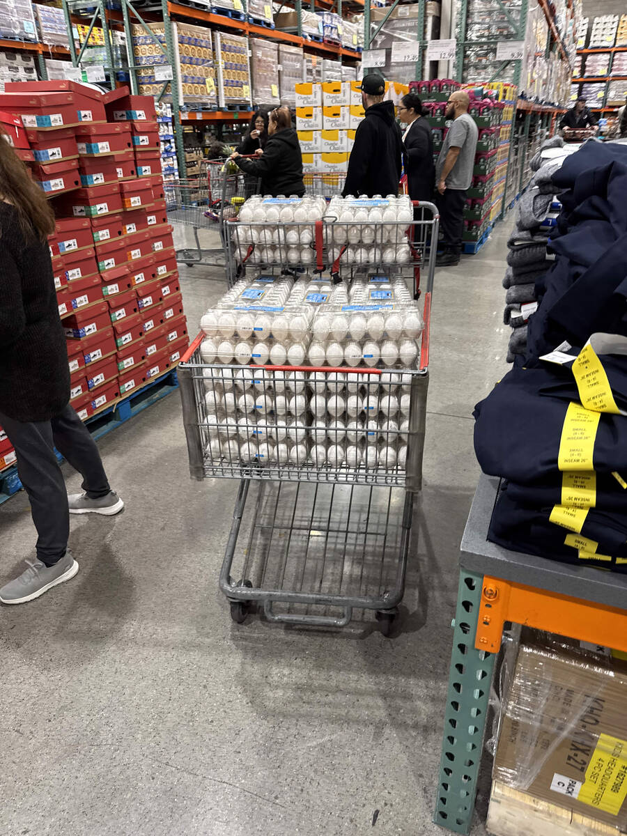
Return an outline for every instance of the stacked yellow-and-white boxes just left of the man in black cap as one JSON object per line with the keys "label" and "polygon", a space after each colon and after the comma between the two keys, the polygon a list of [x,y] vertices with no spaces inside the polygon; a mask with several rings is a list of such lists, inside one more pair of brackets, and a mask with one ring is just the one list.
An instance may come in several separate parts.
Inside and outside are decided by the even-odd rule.
{"label": "stacked yellow-and-white boxes just left of the man in black cap", "polygon": [[296,84],[296,128],[305,174],[345,173],[363,117],[357,81]]}

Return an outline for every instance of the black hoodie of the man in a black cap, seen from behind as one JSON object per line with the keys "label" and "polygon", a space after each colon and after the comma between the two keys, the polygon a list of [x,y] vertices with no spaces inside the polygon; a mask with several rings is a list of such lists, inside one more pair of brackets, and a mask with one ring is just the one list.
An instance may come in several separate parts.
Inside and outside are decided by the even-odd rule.
{"label": "black hoodie of the man in a black cap, seen from behind", "polygon": [[402,145],[394,104],[371,105],[355,133],[343,196],[398,194]]}

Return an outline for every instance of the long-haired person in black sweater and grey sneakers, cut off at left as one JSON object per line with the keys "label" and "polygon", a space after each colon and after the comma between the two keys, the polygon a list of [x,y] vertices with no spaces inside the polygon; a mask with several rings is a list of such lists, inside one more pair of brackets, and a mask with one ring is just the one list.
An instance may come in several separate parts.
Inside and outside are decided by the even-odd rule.
{"label": "long-haired person in black sweater and grey sneakers, cut off at left", "polygon": [[[69,405],[69,365],[47,236],[54,215],[13,148],[0,137],[0,426],[15,448],[18,475],[37,528],[37,556],[0,589],[24,604],[79,570],[68,549],[69,514],[115,514],[98,448]],[[54,448],[83,476],[68,497]]]}

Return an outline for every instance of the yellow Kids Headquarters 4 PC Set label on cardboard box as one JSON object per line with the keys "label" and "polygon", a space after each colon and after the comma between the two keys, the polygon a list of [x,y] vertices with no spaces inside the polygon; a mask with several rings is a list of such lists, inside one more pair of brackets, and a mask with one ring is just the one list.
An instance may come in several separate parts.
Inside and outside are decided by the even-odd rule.
{"label": "yellow Kids Headquarters 4 PC Set label on cardboard box", "polygon": [[627,798],[627,740],[600,734],[579,801],[617,816]]}

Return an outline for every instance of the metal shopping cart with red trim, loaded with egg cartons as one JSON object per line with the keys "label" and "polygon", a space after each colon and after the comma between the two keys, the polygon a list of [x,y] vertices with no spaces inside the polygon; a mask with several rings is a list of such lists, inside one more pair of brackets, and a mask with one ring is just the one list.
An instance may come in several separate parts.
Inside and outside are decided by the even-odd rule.
{"label": "metal shopping cart with red trim, loaded with egg cartons", "polygon": [[[261,605],[270,621],[319,627],[344,627],[355,609],[370,609],[375,610],[384,635],[395,632],[415,497],[422,487],[429,383],[439,216],[432,204],[422,208],[423,220],[411,225],[419,228],[408,231],[410,239],[420,244],[415,252],[421,260],[410,267],[422,266],[427,271],[422,294],[424,329],[415,368],[206,364],[201,359],[204,334],[196,337],[181,359],[179,380],[191,477],[240,480],[220,573],[220,589],[237,623],[246,619],[253,604]],[[310,375],[327,375],[325,385],[333,394],[349,386],[344,375],[357,373],[364,399],[381,403],[388,394],[399,400],[409,395],[407,426],[405,431],[378,427],[370,443],[367,436],[372,433],[365,425],[366,431],[359,430],[355,436],[362,453],[355,466],[347,458],[332,461],[330,446],[329,457],[319,461],[314,443],[320,437],[328,439],[333,430],[310,411],[300,426],[273,412],[262,422],[246,411],[222,417],[217,399],[221,404],[241,403],[245,389],[238,381],[247,376],[243,370],[250,368],[255,378],[263,378],[276,392],[303,379],[312,380]],[[353,430],[346,432],[348,442],[352,434]],[[268,444],[268,439],[277,440],[276,446]],[[284,449],[279,449],[281,440]],[[385,452],[390,447],[399,451],[394,461]],[[245,542],[243,548],[240,541]]]}

